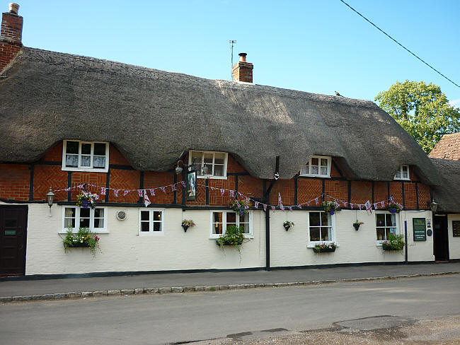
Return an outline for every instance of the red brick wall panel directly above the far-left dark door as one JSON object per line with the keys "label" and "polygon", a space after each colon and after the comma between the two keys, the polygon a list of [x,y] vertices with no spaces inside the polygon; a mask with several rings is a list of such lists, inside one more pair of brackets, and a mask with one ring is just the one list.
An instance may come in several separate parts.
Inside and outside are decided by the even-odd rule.
{"label": "red brick wall panel directly above the far-left dark door", "polygon": [[0,164],[0,199],[28,200],[29,186],[28,165]]}

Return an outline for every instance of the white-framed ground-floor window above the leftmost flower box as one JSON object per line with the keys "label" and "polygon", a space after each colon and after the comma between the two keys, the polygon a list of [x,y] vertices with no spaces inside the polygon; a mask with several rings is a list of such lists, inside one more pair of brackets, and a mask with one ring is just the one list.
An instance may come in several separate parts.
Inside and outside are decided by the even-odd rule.
{"label": "white-framed ground-floor window above the leftmost flower box", "polygon": [[73,232],[78,232],[79,228],[89,228],[96,233],[105,233],[107,232],[107,208],[83,209],[65,206],[62,208],[62,232],[67,232],[69,227]]}

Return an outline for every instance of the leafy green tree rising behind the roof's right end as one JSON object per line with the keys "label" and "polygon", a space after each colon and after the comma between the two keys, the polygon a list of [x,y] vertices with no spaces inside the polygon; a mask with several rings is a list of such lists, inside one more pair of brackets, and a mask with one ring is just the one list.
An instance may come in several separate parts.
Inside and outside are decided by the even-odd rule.
{"label": "leafy green tree rising behind the roof's right end", "polygon": [[460,131],[460,109],[452,107],[439,86],[396,81],[375,98],[403,129],[430,153],[444,134]]}

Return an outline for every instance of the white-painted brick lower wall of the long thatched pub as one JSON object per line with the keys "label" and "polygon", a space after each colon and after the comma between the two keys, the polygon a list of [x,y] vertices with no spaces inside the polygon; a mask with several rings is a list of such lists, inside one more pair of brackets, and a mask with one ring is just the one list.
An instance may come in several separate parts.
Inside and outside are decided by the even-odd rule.
{"label": "white-painted brick lower wall of the long thatched pub", "polygon": [[[28,207],[26,275],[265,267],[263,211],[253,211],[254,238],[243,243],[240,256],[234,248],[225,247],[223,250],[215,240],[209,239],[210,211],[165,209],[163,235],[138,235],[139,208],[108,207],[109,233],[98,235],[100,251],[93,257],[87,248],[71,248],[64,252],[62,240],[65,234],[58,233],[62,228],[62,206],[54,204],[51,214],[46,204],[29,204]],[[119,210],[126,212],[125,221],[115,218],[115,212]],[[336,214],[338,249],[333,253],[315,254],[306,247],[307,215],[306,211],[270,212],[272,267],[403,262],[405,259],[404,251],[384,252],[376,245],[374,212],[370,215],[366,211],[349,210]],[[424,242],[413,242],[413,217],[427,218],[432,223],[431,212],[428,211],[403,211],[398,215],[402,232],[403,221],[408,223],[409,261],[432,261],[432,236],[427,236]],[[186,233],[180,226],[185,218],[196,223]],[[357,219],[364,221],[360,230],[352,226]],[[282,227],[286,220],[295,223],[289,231]]]}

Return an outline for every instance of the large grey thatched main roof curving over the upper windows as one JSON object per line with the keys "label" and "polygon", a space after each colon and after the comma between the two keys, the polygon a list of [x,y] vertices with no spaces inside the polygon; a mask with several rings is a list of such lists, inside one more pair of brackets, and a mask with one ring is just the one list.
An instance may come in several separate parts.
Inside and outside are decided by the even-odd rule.
{"label": "large grey thatched main roof curving over the upper windows", "polygon": [[0,161],[32,162],[62,139],[110,141],[137,170],[168,170],[188,149],[231,153],[251,175],[291,178],[315,154],[358,180],[415,165],[420,146],[370,101],[304,93],[24,47],[0,79]]}

